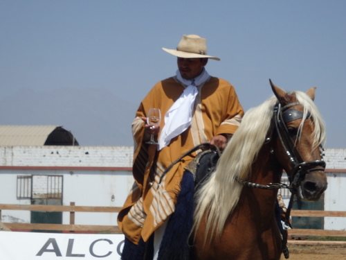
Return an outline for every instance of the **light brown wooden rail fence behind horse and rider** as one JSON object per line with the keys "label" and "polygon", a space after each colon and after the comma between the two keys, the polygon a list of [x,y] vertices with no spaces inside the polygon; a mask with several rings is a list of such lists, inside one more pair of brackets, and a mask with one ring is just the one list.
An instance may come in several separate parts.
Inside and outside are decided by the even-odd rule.
{"label": "light brown wooden rail fence behind horse and rider", "polygon": [[[27,210],[27,211],[49,211],[49,212],[69,212],[70,223],[66,224],[37,224],[37,223],[2,223],[1,210]],[[0,230],[49,230],[62,232],[106,232],[110,234],[121,234],[116,225],[75,225],[76,212],[104,212],[116,213],[120,207],[89,207],[75,206],[71,202],[70,206],[56,205],[14,205],[0,204]],[[346,211],[322,211],[322,210],[292,210],[291,216],[303,217],[344,217]],[[346,230],[325,230],[325,229],[289,229],[291,236],[346,236]]]}

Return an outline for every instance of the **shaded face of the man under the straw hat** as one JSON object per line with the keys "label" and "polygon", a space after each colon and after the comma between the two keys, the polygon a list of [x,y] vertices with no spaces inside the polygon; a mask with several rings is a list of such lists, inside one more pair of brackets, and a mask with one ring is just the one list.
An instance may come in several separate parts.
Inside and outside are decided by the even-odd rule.
{"label": "shaded face of the man under the straw hat", "polygon": [[178,58],[178,69],[185,80],[192,80],[202,73],[203,67],[208,62],[207,58]]}

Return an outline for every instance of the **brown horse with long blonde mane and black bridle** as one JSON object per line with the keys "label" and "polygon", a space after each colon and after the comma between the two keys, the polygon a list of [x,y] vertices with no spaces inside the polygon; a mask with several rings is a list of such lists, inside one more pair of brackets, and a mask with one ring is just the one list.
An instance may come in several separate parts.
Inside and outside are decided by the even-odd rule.
{"label": "brown horse with long blonde mane and black bridle", "polygon": [[278,188],[257,188],[280,182],[284,169],[291,191],[303,200],[318,200],[327,189],[325,125],[313,103],[315,88],[305,94],[271,87],[275,96],[246,112],[197,192],[194,259],[280,259]]}

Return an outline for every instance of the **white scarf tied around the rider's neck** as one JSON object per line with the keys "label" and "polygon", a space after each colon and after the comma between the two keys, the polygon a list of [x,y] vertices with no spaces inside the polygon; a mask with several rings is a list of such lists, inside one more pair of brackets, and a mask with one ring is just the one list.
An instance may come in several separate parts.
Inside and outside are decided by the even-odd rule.
{"label": "white scarf tied around the rider's neck", "polygon": [[205,83],[210,76],[206,69],[203,69],[203,72],[197,78],[185,80],[177,70],[176,78],[185,85],[185,89],[165,114],[165,125],[158,137],[157,150],[161,150],[170,144],[172,138],[180,135],[191,125],[194,100],[198,94],[197,86]]}

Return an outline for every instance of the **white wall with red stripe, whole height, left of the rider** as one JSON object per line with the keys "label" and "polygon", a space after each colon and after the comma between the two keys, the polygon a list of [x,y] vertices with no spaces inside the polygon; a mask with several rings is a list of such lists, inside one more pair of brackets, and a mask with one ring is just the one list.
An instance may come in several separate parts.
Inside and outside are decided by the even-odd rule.
{"label": "white wall with red stripe, whole height, left of the rider", "polygon": [[[1,146],[0,203],[30,205],[17,200],[18,175],[63,175],[63,205],[121,207],[134,182],[132,154],[130,146]],[[1,215],[3,222],[30,223],[30,211]],[[76,212],[75,224],[117,225],[117,215]],[[69,224],[68,212],[63,223]]]}

